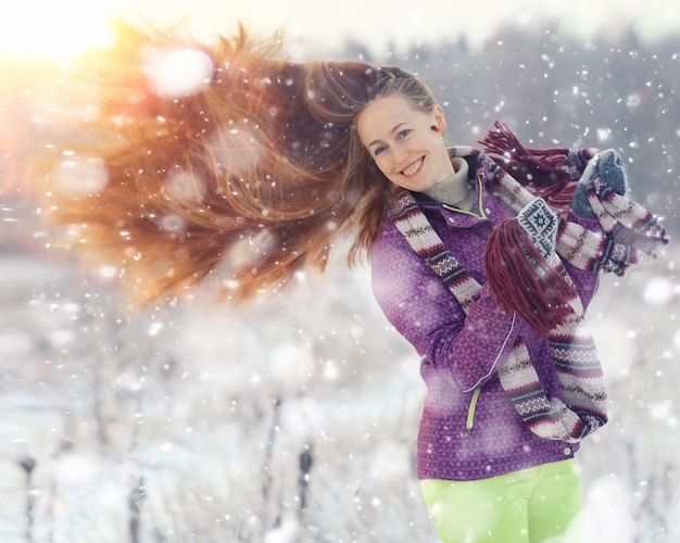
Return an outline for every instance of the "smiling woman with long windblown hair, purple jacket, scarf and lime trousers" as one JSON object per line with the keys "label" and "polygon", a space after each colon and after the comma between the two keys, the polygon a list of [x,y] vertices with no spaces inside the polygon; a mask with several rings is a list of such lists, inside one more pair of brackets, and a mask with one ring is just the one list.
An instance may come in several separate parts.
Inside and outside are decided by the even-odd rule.
{"label": "smiling woman with long windblown hair, purple jacket, scarf and lime trousers", "polygon": [[141,303],[217,265],[226,296],[247,300],[323,268],[356,232],[350,257],[369,254],[380,306],[421,357],[418,476],[442,541],[565,534],[582,506],[574,454],[606,422],[583,308],[601,270],[667,242],[644,210],[620,212],[616,154],[526,150],[499,125],[484,144],[502,168],[446,147],[443,110],[414,76],[276,60],[244,33],[210,51],[210,84],[164,98],[143,75],[149,51],[194,46],[121,43],[99,61],[100,139],[78,150],[108,182],[52,195],[73,245]]}

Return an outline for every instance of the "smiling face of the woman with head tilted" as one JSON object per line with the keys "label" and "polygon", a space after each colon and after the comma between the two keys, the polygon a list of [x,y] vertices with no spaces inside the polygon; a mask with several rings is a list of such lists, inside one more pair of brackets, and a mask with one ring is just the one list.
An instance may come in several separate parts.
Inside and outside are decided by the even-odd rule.
{"label": "smiling face of the woman with head tilted", "polygon": [[370,102],[360,113],[356,129],[390,181],[423,192],[454,173],[441,134],[444,125],[439,105],[419,111],[404,96],[393,94]]}

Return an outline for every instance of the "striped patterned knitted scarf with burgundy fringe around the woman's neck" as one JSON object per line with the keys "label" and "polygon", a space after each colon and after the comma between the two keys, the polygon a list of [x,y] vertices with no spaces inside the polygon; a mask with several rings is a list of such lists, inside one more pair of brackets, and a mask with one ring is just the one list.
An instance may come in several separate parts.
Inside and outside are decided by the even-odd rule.
{"label": "striped patterned knitted scarf with burgundy fringe around the woman's neck", "polygon": [[[566,215],[565,210],[576,192],[575,180],[583,176],[589,161],[597,156],[596,150],[529,152],[506,127],[498,124],[496,129],[495,136],[502,132],[504,142],[514,147],[502,146],[496,138],[492,150],[502,150],[512,166],[509,169],[528,173],[536,192]],[[487,142],[492,139],[488,136]],[[622,275],[642,256],[655,257],[668,237],[655,217],[608,190],[597,175],[589,174],[583,180],[587,185],[583,192],[604,233],[587,230],[564,217],[557,218],[552,212],[545,213],[547,206],[537,205],[534,193],[488,161],[483,153],[462,147],[452,149],[451,153],[476,156],[482,182],[520,215],[520,219],[503,222],[490,237],[484,256],[487,276],[500,305],[506,311],[516,311],[547,337],[562,399],[551,396],[543,389],[521,337],[499,368],[501,384],[533,433],[545,439],[578,442],[606,424],[607,395],[581,300],[559,256],[581,269]],[[550,182],[543,182],[544,179]],[[446,249],[413,194],[401,191],[389,215],[468,314],[469,304],[481,286]],[[552,243],[546,231],[553,232]]]}

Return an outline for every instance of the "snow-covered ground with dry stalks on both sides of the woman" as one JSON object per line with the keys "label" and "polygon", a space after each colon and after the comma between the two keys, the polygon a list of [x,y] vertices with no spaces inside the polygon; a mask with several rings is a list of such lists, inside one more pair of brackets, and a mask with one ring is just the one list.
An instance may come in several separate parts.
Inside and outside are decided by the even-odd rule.
{"label": "snow-covered ground with dry stalks on both sides of the woman", "polygon": [[[435,542],[418,361],[368,270],[133,316],[41,254],[0,261],[0,540]],[[579,455],[597,541],[680,540],[673,258],[591,306],[612,419]]]}

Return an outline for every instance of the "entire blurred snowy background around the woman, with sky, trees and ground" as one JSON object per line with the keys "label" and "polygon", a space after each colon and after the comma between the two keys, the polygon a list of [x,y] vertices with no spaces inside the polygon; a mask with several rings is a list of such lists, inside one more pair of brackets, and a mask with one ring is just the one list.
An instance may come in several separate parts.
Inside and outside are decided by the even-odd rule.
{"label": "entire blurred snowy background around the woman, with sky, trees and ground", "polygon": [[[615,148],[677,237],[677,2],[284,4],[0,1],[1,541],[437,541],[415,478],[418,357],[347,248],[244,308],[197,295],[139,314],[51,247],[35,156],[87,115],[68,74],[112,17],[201,40],[240,20],[284,27],[293,60],[399,64],[452,143],[501,119],[530,147]],[[680,541],[677,251],[603,277],[591,305],[612,412],[578,456],[597,541]]]}

